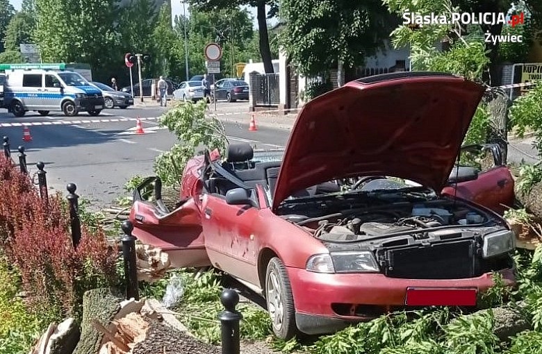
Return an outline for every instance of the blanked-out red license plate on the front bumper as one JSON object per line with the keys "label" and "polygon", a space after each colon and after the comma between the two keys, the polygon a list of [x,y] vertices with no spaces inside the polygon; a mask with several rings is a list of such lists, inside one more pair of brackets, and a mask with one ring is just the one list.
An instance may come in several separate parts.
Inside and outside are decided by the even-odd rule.
{"label": "blanked-out red license plate on the front bumper", "polygon": [[474,306],[477,289],[408,287],[405,305],[409,306]]}

